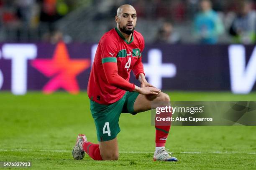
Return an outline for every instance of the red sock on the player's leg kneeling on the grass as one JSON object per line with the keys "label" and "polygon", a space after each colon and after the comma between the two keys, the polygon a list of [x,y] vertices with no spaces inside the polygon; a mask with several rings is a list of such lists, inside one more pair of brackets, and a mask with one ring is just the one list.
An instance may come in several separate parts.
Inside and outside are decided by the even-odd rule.
{"label": "red sock on the player's leg kneeling on the grass", "polygon": [[82,147],[84,152],[86,152],[93,160],[102,160],[99,144],[83,142]]}

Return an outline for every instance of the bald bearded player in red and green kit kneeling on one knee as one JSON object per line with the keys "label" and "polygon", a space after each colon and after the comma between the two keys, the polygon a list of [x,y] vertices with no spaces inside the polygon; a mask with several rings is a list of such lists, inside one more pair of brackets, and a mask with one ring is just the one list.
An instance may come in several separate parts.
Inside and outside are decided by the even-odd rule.
{"label": "bald bearded player in red and green kit kneeling on one knee", "polygon": [[[136,10],[131,5],[120,6],[115,16],[117,27],[100,39],[87,89],[99,144],[90,143],[85,135],[79,134],[72,151],[74,159],[83,159],[86,152],[94,160],[118,160],[120,114],[135,115],[151,110],[152,101],[170,101],[169,95],[146,81],[141,62],[144,39],[134,30],[136,20]],[[141,87],[129,82],[131,70]],[[155,126],[154,160],[177,161],[165,149],[170,122]]]}

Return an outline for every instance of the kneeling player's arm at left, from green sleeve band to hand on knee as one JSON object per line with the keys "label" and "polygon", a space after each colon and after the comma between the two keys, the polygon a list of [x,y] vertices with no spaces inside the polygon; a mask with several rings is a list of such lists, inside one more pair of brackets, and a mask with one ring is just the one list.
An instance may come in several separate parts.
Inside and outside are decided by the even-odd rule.
{"label": "kneeling player's arm at left, from green sleeve band to hand on knee", "polygon": [[128,90],[130,92],[138,92],[143,95],[157,95],[161,91],[154,87],[138,87],[118,75],[118,66],[115,57],[108,57],[107,59],[102,59],[102,65],[107,81],[110,85],[113,85],[123,90]]}

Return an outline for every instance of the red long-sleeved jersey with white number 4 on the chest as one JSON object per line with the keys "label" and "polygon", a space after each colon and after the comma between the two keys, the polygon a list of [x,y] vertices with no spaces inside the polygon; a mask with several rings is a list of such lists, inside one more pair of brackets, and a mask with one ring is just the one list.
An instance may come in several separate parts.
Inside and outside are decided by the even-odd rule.
{"label": "red long-sleeved jersey with white number 4 on the chest", "polygon": [[130,72],[133,70],[137,79],[140,73],[144,74],[143,49],[144,38],[135,30],[130,42],[117,28],[106,32],[100,39],[92,65],[87,87],[89,98],[108,105],[120,100],[126,91],[133,91]]}

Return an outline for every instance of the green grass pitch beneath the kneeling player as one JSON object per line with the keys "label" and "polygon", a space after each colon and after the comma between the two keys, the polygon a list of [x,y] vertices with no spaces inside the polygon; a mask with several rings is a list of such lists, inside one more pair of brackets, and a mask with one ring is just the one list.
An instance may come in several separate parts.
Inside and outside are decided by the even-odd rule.
{"label": "green grass pitch beneath the kneeling player", "polygon": [[[169,92],[171,100],[255,100],[256,93]],[[150,112],[120,117],[118,161],[73,160],[78,133],[97,142],[85,92],[14,96],[0,92],[0,162],[31,161],[31,169],[256,169],[256,126],[173,126],[166,148],[179,162],[153,162]],[[125,153],[125,152],[140,153]],[[142,153],[145,152],[145,153]],[[189,153],[185,153],[189,152]],[[198,154],[191,152],[200,152]]]}

